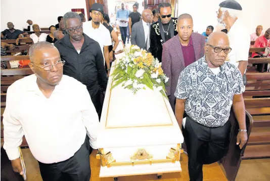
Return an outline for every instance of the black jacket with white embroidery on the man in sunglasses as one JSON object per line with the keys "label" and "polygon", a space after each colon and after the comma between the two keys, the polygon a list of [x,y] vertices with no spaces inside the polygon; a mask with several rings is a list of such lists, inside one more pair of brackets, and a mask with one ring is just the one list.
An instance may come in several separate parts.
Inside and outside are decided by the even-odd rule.
{"label": "black jacket with white embroidery on the man in sunglasses", "polygon": [[[152,55],[162,61],[162,46],[165,43],[164,31],[161,27],[160,20],[150,26],[150,49]],[[178,34],[177,30],[177,18],[171,18],[170,24],[170,36],[171,38]]]}

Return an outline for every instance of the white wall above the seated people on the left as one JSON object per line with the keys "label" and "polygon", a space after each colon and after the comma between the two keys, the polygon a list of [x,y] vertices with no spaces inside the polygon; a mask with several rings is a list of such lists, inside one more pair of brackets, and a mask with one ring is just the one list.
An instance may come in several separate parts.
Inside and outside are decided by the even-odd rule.
{"label": "white wall above the seated people on the left", "polygon": [[58,16],[77,8],[84,8],[85,15],[88,14],[85,0],[1,0],[1,31],[7,29],[8,22],[22,30],[28,19],[40,28],[49,28],[58,23]]}

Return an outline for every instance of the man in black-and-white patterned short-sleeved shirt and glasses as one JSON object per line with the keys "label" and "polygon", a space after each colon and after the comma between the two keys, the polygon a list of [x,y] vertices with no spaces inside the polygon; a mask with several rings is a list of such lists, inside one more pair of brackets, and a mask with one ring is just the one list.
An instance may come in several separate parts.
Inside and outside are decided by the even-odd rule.
{"label": "man in black-and-white patterned short-sleeved shirt and glasses", "polygon": [[237,145],[247,141],[244,85],[241,72],[225,62],[230,48],[228,35],[213,32],[205,46],[205,56],[180,74],[175,91],[175,116],[182,129],[189,155],[190,180],[203,180],[202,166],[222,158],[228,151],[233,110],[239,123]]}

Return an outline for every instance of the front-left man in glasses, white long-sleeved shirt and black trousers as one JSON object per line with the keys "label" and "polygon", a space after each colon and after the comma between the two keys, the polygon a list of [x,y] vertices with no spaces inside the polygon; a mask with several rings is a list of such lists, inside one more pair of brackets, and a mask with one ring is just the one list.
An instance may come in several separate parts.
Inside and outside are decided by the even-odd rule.
{"label": "front-left man in glasses, white long-sleeved shirt and black trousers", "polygon": [[13,169],[23,174],[18,147],[25,135],[44,181],[88,181],[99,118],[86,86],[63,75],[65,61],[51,43],[33,44],[29,57],[34,74],[8,88],[3,115],[4,149]]}

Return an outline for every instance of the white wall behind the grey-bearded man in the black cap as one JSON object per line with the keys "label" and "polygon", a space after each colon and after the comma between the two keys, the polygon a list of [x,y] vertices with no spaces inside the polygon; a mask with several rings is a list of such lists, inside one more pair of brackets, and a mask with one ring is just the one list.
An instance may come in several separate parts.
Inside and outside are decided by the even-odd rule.
{"label": "white wall behind the grey-bearded man in the black cap", "polygon": [[[194,31],[202,33],[208,25],[215,27],[219,3],[224,0],[178,0],[178,15],[188,13],[193,17]],[[255,32],[257,25],[263,26],[263,31],[270,28],[268,16],[269,0],[237,0],[242,6],[240,19],[244,22],[249,34]]]}

